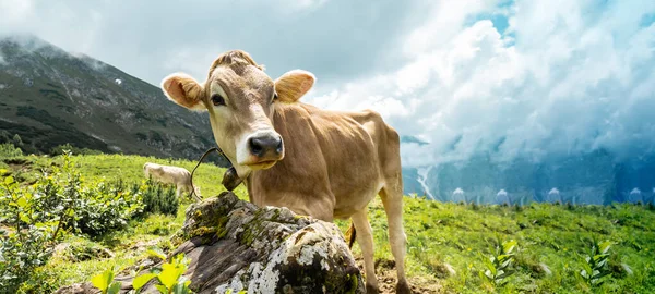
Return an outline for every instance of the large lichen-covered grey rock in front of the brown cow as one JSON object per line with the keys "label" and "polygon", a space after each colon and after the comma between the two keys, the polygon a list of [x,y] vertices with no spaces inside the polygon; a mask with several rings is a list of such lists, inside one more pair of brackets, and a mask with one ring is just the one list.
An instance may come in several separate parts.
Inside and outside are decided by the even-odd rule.
{"label": "large lichen-covered grey rock in front of the brown cow", "polygon": [[[192,205],[186,215],[174,237],[181,245],[170,256],[184,253],[191,259],[184,277],[196,293],[365,293],[355,259],[333,223],[286,208],[258,208],[229,192]],[[117,277],[121,293],[131,290],[132,279]],[[155,280],[141,293],[158,293]],[[87,284],[75,289],[61,293],[90,293]]]}

